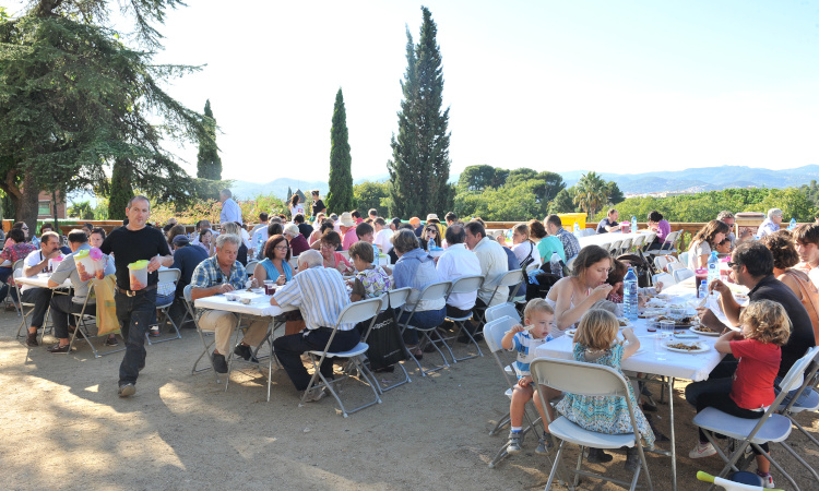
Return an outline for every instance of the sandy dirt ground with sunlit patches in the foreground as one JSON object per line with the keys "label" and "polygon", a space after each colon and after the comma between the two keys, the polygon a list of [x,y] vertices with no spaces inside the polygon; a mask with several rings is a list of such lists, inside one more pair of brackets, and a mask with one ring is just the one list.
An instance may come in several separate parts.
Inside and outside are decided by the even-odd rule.
{"label": "sandy dirt ground with sunlit patches in the foreground", "polygon": [[[383,404],[343,418],[329,397],[298,407],[283,371],[273,374],[270,403],[256,368],[234,373],[227,392],[210,371],[191,374],[202,350],[191,328],[182,339],[149,346],[136,395],[120,399],[121,352],[95,359],[83,343],[68,356],[45,346],[28,350],[15,339],[19,323],[15,313],[0,312],[4,489],[527,490],[543,489],[548,479],[550,463],[534,453],[531,438],[521,454],[487,466],[507,435],[489,430],[509,408],[488,352],[428,378],[412,370],[413,382],[384,394]],[[46,346],[52,342],[47,335]],[[684,387],[678,383],[674,394],[679,489],[707,489],[697,470],[722,466],[716,456],[687,456],[697,433]],[[355,399],[367,390],[348,384],[343,394]],[[667,405],[655,418],[667,433]],[[816,415],[799,421],[819,433]],[[790,442],[819,468],[819,448],[797,431]],[[625,455],[614,454],[614,462],[592,468],[626,478]],[[784,450],[774,445],[773,456],[802,489],[819,489]],[[577,451],[567,457],[571,465]],[[649,460],[654,488],[670,489],[669,458],[650,454]],[[786,488],[784,478],[774,472],[774,479]],[[581,488],[619,489],[589,479]]]}

